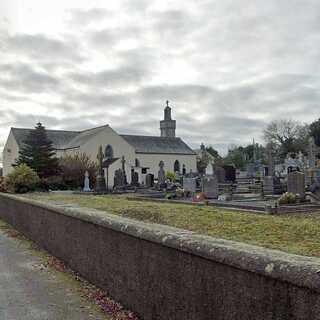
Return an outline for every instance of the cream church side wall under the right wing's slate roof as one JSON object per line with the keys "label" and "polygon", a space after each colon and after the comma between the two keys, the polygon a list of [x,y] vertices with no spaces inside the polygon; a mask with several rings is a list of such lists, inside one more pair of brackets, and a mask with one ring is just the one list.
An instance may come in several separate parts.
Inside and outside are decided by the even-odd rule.
{"label": "cream church side wall under the right wing's slate roof", "polygon": [[165,171],[173,172],[176,160],[180,162],[180,172],[182,172],[183,165],[185,165],[187,173],[189,173],[190,170],[192,170],[192,172],[197,171],[196,155],[138,153],[137,158],[140,161],[140,166],[150,168],[148,173],[154,174],[155,178],[158,177],[159,162],[161,160],[164,162]]}

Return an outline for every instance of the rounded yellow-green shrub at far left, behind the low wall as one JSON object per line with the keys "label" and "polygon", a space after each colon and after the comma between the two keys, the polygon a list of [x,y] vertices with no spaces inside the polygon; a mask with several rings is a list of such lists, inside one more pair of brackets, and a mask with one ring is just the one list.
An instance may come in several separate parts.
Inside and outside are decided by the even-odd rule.
{"label": "rounded yellow-green shrub at far left, behind the low wall", "polygon": [[8,190],[15,193],[34,191],[39,182],[37,173],[24,163],[15,167],[5,179]]}

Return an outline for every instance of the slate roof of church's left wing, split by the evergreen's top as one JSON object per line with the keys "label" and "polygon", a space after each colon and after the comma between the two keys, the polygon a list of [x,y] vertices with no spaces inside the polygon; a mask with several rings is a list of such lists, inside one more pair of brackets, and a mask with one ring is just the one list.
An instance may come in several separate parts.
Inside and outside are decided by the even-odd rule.
{"label": "slate roof of church's left wing, split by the evergreen's top", "polygon": [[[11,131],[19,145],[21,147],[25,141],[27,135],[31,130],[34,129],[22,129],[22,128],[11,128]],[[79,135],[79,131],[65,131],[65,130],[46,130],[48,138],[52,141],[55,148],[60,149]]]}

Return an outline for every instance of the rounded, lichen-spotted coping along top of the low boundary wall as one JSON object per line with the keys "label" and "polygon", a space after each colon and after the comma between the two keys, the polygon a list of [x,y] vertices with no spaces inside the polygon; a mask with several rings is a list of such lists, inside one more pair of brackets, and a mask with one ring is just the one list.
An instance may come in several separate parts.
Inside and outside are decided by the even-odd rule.
{"label": "rounded, lichen-spotted coping along top of the low boundary wall", "polygon": [[76,205],[46,203],[4,193],[0,193],[1,198],[44,208],[207,260],[320,292],[320,258],[199,235],[188,230],[146,223],[96,209],[80,208]]}

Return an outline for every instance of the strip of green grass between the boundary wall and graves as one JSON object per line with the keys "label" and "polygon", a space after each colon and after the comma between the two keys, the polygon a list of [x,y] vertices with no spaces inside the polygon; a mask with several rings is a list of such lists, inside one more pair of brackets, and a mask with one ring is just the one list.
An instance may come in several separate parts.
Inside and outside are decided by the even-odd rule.
{"label": "strip of green grass between the boundary wall and graves", "polygon": [[270,216],[213,207],[127,200],[117,196],[28,194],[29,198],[90,207],[141,221],[320,257],[320,214]]}

